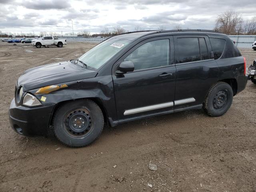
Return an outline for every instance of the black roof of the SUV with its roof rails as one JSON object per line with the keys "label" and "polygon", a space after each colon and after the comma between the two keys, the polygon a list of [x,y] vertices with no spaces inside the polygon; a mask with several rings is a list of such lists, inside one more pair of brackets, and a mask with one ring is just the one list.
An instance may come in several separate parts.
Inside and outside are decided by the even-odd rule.
{"label": "black roof of the SUV with its roof rails", "polygon": [[[216,34],[222,34],[219,31],[216,30],[200,30],[200,29],[187,29],[187,30],[163,30],[163,31],[138,31],[138,32],[127,32],[127,33],[123,33],[123,34],[119,34],[117,36],[114,36],[113,38],[116,39],[126,39],[126,40],[136,40],[138,38],[142,38],[144,36],[149,36],[149,35],[154,35],[154,34],[171,34],[171,35],[175,35],[175,34],[181,34],[182,32],[184,32],[184,34],[188,34],[188,33],[195,33],[198,32],[199,34],[201,33],[216,33]],[[223,34],[222,34],[223,35]]]}

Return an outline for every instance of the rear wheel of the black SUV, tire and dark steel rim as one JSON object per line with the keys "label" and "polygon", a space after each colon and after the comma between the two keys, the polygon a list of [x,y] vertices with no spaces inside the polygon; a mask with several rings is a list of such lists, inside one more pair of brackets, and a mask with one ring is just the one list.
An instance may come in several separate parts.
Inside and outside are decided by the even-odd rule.
{"label": "rear wheel of the black SUV, tire and dark steel rim", "polygon": [[232,101],[233,90],[231,86],[225,82],[217,82],[210,88],[203,106],[208,115],[217,117],[228,111]]}

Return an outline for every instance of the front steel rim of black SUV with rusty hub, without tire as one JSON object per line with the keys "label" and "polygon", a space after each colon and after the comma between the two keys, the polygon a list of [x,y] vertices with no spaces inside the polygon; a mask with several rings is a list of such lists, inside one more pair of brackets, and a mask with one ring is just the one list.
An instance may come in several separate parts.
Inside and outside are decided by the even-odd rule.
{"label": "front steel rim of black SUV with rusty hub, without tire", "polygon": [[93,129],[93,118],[90,111],[79,108],[70,111],[64,119],[65,132],[72,138],[84,138]]}

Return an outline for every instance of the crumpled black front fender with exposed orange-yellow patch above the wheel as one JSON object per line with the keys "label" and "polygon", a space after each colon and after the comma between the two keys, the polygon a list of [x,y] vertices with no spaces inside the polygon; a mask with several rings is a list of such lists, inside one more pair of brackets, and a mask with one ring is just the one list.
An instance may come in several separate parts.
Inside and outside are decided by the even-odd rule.
{"label": "crumpled black front fender with exposed orange-yellow patch above the wheel", "polygon": [[95,98],[100,100],[108,117],[116,119],[116,106],[112,76],[66,82],[30,90],[42,104],[54,103],[81,98]]}

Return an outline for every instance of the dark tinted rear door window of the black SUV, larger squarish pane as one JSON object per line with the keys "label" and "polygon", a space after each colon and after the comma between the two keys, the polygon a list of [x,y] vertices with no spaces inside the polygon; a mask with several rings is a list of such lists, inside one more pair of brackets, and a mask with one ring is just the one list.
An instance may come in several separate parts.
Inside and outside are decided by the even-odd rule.
{"label": "dark tinted rear door window of the black SUV, larger squarish pane", "polygon": [[178,38],[178,50],[180,63],[200,60],[198,38]]}

